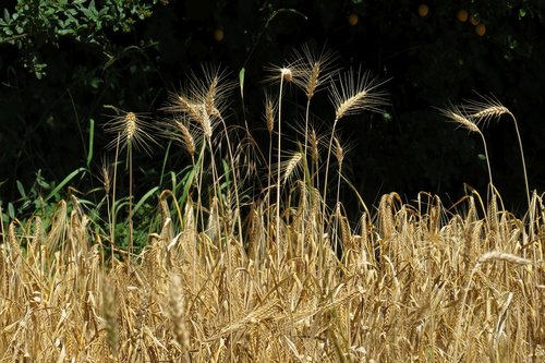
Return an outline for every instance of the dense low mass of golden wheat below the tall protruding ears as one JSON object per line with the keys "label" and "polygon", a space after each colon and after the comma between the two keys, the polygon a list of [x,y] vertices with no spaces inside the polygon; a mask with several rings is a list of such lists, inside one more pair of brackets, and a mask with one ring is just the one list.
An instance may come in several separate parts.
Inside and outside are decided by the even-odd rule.
{"label": "dense low mass of golden wheat below the tall protruding ears", "polygon": [[50,230],[35,219],[24,234],[3,231],[1,361],[543,360],[542,199],[529,241],[505,210],[477,218],[475,196],[464,216],[421,196],[414,207],[385,195],[359,234],[339,215],[341,259],[312,233],[301,256],[293,215],[281,262],[259,251],[259,213],[244,249],[214,243],[187,204],[183,230],[166,216],[132,266],[107,264],[87,217],[61,202]]}

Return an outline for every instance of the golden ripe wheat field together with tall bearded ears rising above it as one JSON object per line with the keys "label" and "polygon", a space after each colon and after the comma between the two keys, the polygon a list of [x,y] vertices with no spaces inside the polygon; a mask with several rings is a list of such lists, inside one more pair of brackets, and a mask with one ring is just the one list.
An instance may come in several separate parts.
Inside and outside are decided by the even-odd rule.
{"label": "golden ripe wheat field together with tall bearded ears rising above it", "polygon": [[[171,95],[159,129],[192,168],[183,190],[158,195],[159,222],[142,250],[133,238],[132,154],[158,129],[132,112],[112,120],[110,152],[131,174],[126,244],[118,246],[112,228],[119,181],[108,168],[104,229],[93,228],[74,195],[47,223],[39,216],[2,223],[0,361],[545,360],[542,197],[528,191],[523,219],[494,187],[455,206],[428,193],[411,203],[390,193],[376,210],[361,202],[360,215],[347,215],[340,189],[359,195],[343,176],[336,128],[379,110],[386,94],[368,73],[338,72],[331,62],[304,48],[271,68],[278,94],[265,102],[270,143],[261,158],[247,130],[237,138],[240,128],[223,117],[233,89],[226,74],[205,69]],[[281,132],[288,84],[307,100],[291,144]],[[325,134],[310,111],[320,90],[335,109]],[[464,120],[477,128],[475,113],[489,106],[453,111],[469,112]],[[253,157],[264,168],[252,168]],[[262,192],[250,198],[255,178]]]}

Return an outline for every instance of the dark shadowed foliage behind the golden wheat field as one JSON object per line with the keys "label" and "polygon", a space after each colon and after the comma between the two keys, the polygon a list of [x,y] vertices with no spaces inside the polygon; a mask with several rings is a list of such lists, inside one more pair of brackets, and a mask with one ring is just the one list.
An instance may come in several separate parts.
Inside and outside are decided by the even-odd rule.
{"label": "dark shadowed foliage behind the golden wheat field", "polygon": [[[354,145],[348,155],[349,179],[368,204],[392,191],[407,199],[427,191],[451,201],[463,195],[464,183],[485,191],[480,140],[456,131],[434,109],[449,100],[474,99],[475,92],[493,93],[518,117],[531,189],[544,191],[543,1],[39,3],[2,1],[0,9],[0,201],[4,203],[22,198],[21,185],[47,189],[86,166],[90,120],[96,124],[95,153],[88,168],[98,173],[108,143],[101,125],[112,114],[104,106],[160,116],[157,109],[167,93],[178,89],[203,62],[221,64],[233,80],[245,68],[246,120],[252,129],[263,129],[264,68],[281,64],[305,43],[335,50],[344,68],[362,64],[391,78],[385,86],[391,107],[384,114],[352,118],[340,128]],[[426,16],[419,14],[422,3],[428,7]],[[460,9],[480,17],[486,25],[484,36],[469,21],[457,19]],[[318,107],[315,112],[328,120],[332,109]],[[231,122],[243,122],[237,93]],[[494,122],[485,134],[506,206],[523,208],[523,174],[512,123]],[[186,162],[183,153],[173,153],[169,168],[181,170]],[[162,157],[160,149],[152,158],[141,157],[137,190],[157,183]],[[92,178],[72,184],[81,191],[98,186]]]}

